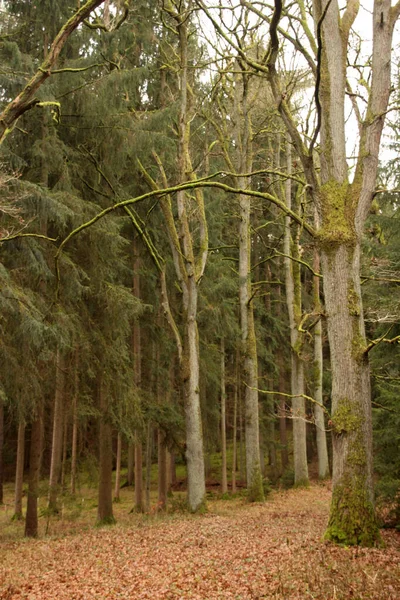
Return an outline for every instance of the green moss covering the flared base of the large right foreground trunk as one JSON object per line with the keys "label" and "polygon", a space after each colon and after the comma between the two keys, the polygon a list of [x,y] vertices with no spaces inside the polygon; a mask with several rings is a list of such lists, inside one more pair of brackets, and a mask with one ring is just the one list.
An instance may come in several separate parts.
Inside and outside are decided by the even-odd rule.
{"label": "green moss covering the flared base of the large right foreground trunk", "polygon": [[335,486],[325,539],[346,546],[376,546],[381,536],[365,478],[349,475]]}

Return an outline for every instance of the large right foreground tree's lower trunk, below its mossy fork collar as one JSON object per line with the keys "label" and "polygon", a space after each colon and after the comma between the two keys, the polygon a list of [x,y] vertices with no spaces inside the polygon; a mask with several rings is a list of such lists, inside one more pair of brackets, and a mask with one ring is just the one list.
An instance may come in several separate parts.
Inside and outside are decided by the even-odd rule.
{"label": "large right foreground tree's lower trunk, below its mossy fork collar", "polygon": [[360,247],[322,249],[332,361],[333,495],[326,536],[347,544],[379,540],[372,478],[372,418],[361,304]]}

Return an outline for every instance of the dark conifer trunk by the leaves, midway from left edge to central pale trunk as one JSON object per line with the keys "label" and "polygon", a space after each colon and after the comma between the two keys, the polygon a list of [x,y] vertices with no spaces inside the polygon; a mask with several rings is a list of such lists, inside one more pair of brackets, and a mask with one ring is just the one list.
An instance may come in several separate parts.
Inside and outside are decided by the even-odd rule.
{"label": "dark conifer trunk by the leaves, midway from left edge to central pale trunk", "polygon": [[98,381],[99,422],[99,490],[97,524],[115,523],[112,506],[112,428],[108,415],[108,398],[101,376]]}

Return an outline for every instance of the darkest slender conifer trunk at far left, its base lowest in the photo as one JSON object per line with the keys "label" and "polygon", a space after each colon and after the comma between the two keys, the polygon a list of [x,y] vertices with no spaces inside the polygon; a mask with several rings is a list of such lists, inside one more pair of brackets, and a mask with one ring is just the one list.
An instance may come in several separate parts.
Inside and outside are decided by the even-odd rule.
{"label": "darkest slender conifer trunk at far left, its base lowest in the photo", "polygon": [[37,409],[37,416],[32,423],[31,444],[29,454],[29,483],[28,500],[25,517],[25,537],[37,537],[38,535],[38,495],[40,465],[42,460],[43,443],[43,405]]}

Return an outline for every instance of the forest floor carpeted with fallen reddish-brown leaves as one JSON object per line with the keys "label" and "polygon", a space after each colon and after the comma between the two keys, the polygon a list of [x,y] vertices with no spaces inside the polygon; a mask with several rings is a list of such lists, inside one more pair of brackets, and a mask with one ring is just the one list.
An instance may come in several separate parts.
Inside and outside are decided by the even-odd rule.
{"label": "forest floor carpeted with fallen reddish-brown leaves", "polygon": [[382,549],[322,541],[328,486],[273,492],[262,505],[210,500],[200,516],[129,515],[132,492],[123,492],[114,527],[95,529],[80,514],[42,522],[48,535],[37,540],[22,538],[22,524],[3,528],[0,598],[400,598],[400,533],[383,531]]}

